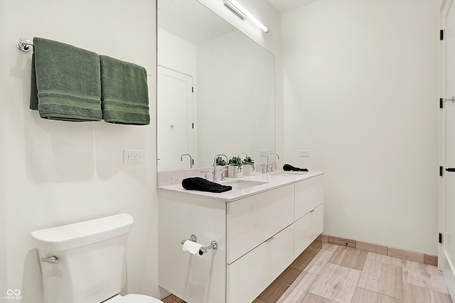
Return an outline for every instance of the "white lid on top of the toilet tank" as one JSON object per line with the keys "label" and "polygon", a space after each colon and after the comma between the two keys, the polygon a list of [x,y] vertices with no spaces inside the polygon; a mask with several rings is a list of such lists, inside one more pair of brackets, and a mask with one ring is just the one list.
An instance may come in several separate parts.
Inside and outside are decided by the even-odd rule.
{"label": "white lid on top of the toilet tank", "polygon": [[132,229],[133,221],[132,216],[120,213],[105,218],[35,230],[31,236],[37,240],[38,248],[43,250],[69,250],[128,233]]}

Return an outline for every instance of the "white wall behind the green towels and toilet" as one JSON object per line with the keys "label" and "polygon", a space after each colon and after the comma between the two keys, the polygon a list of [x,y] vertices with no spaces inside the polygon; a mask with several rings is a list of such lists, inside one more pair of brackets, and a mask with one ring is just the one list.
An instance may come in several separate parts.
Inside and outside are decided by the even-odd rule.
{"label": "white wall behind the green towels and toilet", "polygon": [[[0,21],[0,301],[20,289],[21,302],[43,302],[31,231],[115,213],[135,219],[127,290],[158,296],[156,1],[2,0]],[[31,52],[16,42],[34,36],[144,66],[151,124],[58,122],[29,110]],[[122,164],[123,149],[141,149],[143,163]]]}

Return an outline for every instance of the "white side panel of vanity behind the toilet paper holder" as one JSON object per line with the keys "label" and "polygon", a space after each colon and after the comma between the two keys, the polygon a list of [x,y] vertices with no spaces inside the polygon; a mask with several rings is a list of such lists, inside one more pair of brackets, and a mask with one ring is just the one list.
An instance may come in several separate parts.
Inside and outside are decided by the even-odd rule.
{"label": "white side panel of vanity behind the toilet paper holder", "polygon": [[[199,196],[159,191],[159,286],[188,303],[226,299],[226,203]],[[204,255],[182,251],[191,235],[216,250]]]}

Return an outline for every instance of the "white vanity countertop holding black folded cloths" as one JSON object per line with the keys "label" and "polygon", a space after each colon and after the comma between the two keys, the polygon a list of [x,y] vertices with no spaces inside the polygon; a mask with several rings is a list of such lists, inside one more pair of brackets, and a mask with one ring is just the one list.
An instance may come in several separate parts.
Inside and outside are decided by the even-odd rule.
{"label": "white vanity countertop holding black folded cloths", "polygon": [[[203,196],[205,198],[213,198],[220,201],[232,202],[241,198],[256,195],[264,191],[270,191],[274,188],[294,184],[305,179],[314,178],[315,176],[321,176],[324,174],[323,171],[275,171],[269,174],[256,174],[255,176],[243,176],[242,178],[226,178],[225,181],[218,181],[216,183],[222,185],[231,185],[230,183],[240,182],[257,182],[260,183],[257,186],[252,186],[244,189],[234,189],[231,191],[225,191],[224,193],[209,193],[206,191],[188,191],[180,184],[173,184],[168,186],[159,186],[159,190],[173,191],[183,194]],[[211,180],[210,180],[211,181]],[[262,182],[264,182],[262,184]]]}

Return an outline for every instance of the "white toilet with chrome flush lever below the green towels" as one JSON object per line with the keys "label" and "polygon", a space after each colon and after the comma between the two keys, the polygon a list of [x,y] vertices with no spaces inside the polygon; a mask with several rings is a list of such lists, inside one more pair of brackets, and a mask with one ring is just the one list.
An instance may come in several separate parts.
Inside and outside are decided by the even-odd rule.
{"label": "white toilet with chrome flush lever below the green towels", "polygon": [[36,230],[45,303],[159,303],[119,294],[127,282],[127,236],[132,216],[115,216]]}

